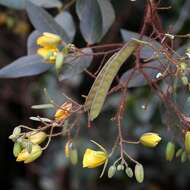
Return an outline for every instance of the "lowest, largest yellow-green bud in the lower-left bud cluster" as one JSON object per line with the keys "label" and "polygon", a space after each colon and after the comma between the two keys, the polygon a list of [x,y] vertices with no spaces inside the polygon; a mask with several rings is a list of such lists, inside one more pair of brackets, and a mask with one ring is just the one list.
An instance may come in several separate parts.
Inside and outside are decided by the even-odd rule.
{"label": "lowest, largest yellow-green bud in the lower-left bud cluster", "polygon": [[23,149],[17,157],[17,162],[24,161],[24,163],[30,163],[36,160],[42,154],[42,149],[39,145],[32,145],[32,151],[29,153],[27,149]]}

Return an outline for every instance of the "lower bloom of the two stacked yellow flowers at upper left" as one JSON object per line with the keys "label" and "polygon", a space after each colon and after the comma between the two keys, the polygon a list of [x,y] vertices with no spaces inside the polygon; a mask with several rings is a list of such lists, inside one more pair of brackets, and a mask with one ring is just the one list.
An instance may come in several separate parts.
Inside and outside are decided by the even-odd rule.
{"label": "lower bloom of the two stacked yellow flowers at upper left", "polygon": [[37,50],[37,54],[50,63],[55,63],[58,49],[54,47],[44,47]]}

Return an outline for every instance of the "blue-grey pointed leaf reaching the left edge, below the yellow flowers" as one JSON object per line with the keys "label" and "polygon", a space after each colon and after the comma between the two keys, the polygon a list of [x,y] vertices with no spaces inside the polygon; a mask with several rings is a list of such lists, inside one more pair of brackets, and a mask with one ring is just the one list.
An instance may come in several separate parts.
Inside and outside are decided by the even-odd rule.
{"label": "blue-grey pointed leaf reaching the left edge, below the yellow flowers", "polygon": [[24,56],[0,69],[0,78],[38,75],[51,67],[51,64],[43,63],[43,59],[37,55]]}

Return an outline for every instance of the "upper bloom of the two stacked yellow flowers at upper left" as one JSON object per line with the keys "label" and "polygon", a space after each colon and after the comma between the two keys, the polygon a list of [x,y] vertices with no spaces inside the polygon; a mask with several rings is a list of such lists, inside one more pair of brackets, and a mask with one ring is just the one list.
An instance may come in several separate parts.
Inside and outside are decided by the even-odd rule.
{"label": "upper bloom of the two stacked yellow flowers at upper left", "polygon": [[37,39],[37,45],[43,47],[57,47],[61,43],[61,38],[52,33],[44,32],[43,36]]}

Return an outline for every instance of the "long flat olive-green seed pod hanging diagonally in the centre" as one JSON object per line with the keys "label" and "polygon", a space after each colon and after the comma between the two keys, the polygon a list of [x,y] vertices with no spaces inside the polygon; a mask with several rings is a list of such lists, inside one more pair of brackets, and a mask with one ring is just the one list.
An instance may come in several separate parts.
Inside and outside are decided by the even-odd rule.
{"label": "long flat olive-green seed pod hanging diagonally in the centre", "polygon": [[104,104],[107,92],[113,79],[121,68],[122,64],[133,53],[138,42],[130,41],[117,53],[115,53],[104,65],[96,80],[94,81],[84,105],[85,110],[90,110],[89,118],[94,120],[100,113]]}

